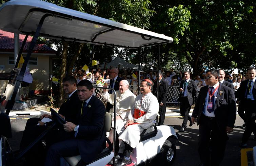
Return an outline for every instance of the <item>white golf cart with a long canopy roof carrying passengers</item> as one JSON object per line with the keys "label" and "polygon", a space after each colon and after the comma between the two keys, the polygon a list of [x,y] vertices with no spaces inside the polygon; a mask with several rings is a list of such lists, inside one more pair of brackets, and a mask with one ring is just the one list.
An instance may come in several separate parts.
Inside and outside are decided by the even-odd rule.
{"label": "white golf cart with a long canopy roof carrying passengers", "polygon": [[[9,78],[9,84],[7,85],[6,91],[2,96],[4,98],[1,100],[1,115],[3,116],[0,116],[0,118],[2,118],[0,121],[3,122],[3,120],[5,120],[7,121],[7,124],[9,124],[9,118],[7,115],[13,107],[15,96],[17,94],[20,82],[23,79],[29,57],[31,56],[39,36],[70,42],[96,44],[111,48],[123,47],[129,49],[140,49],[142,47],[158,45],[158,62],[160,61],[160,45],[173,42],[171,37],[166,37],[163,34],[154,33],[130,25],[85,14],[44,1],[8,1],[0,8],[0,17],[1,30],[18,34],[26,34],[26,38],[24,39],[18,54],[17,63],[12,71],[11,77]],[[33,35],[33,39],[30,43],[22,68],[17,70],[16,68],[18,66],[18,62],[28,35]],[[114,104],[114,111],[115,106],[116,105]],[[111,116],[109,116],[107,113],[106,115],[106,119],[111,119]],[[112,120],[106,120],[106,131],[109,131],[111,123]],[[24,151],[18,154],[13,154],[8,145],[6,137],[4,137],[6,136],[6,132],[8,134],[9,131],[2,131],[2,128],[3,126],[0,128],[0,164],[5,166],[17,165],[16,162],[19,162],[24,153],[40,138],[31,143],[31,145],[29,145]],[[176,147],[171,141],[172,139],[178,139],[178,137],[171,126],[151,126],[149,129],[144,130],[140,136],[140,143],[133,150],[131,155],[133,161],[131,165],[142,165],[150,162],[155,157],[160,159],[158,162],[162,162],[161,165],[169,165],[173,162],[176,155]],[[115,139],[113,144],[115,145]],[[95,161],[88,165],[105,166],[114,157],[115,150],[113,152],[112,147],[113,145],[110,143],[110,147],[105,148],[102,153],[98,155]],[[83,165],[80,156],[68,157],[65,158],[65,160],[72,166]],[[113,162],[115,165],[114,160]]]}

